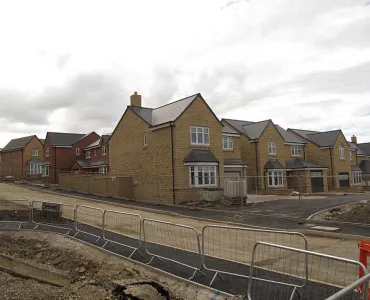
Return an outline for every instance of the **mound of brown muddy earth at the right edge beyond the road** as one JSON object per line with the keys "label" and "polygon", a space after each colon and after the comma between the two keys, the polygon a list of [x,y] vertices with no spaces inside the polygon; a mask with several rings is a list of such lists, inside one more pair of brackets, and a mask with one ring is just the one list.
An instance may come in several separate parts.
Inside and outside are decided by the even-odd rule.
{"label": "mound of brown muddy earth at the right edge beyond the road", "polygon": [[370,202],[333,208],[318,217],[324,220],[370,224]]}

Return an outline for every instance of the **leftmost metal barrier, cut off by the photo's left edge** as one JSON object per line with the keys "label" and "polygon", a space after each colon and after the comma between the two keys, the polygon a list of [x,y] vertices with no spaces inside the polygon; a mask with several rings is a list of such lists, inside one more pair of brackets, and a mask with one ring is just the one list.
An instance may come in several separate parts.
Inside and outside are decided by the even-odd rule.
{"label": "leftmost metal barrier, cut off by the photo's left edge", "polygon": [[31,203],[28,200],[0,199],[0,222],[31,222]]}

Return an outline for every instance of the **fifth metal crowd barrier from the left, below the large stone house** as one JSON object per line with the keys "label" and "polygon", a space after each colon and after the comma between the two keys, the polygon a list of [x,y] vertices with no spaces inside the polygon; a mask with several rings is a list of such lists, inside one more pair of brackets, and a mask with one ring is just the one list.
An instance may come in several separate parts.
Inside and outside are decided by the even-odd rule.
{"label": "fifth metal crowd barrier from the left, below the large stone house", "polygon": [[[148,264],[154,258],[158,258],[160,261],[165,259],[193,269],[194,272],[189,279],[192,279],[197,272],[203,274],[201,271],[200,239],[194,227],[143,219],[143,237],[145,252],[151,256]],[[157,246],[150,247],[150,244],[156,244]],[[149,248],[152,248],[155,252],[151,252],[152,250]],[[194,256],[189,255],[189,252],[193,253]]]}

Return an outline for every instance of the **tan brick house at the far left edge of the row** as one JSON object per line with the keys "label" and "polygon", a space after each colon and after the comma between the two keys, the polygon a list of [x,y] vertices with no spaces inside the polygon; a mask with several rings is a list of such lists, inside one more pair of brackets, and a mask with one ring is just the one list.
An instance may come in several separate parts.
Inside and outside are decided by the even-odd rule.
{"label": "tan brick house at the far left edge of the row", "polygon": [[42,173],[43,145],[36,135],[11,140],[1,151],[1,176],[38,178]]}

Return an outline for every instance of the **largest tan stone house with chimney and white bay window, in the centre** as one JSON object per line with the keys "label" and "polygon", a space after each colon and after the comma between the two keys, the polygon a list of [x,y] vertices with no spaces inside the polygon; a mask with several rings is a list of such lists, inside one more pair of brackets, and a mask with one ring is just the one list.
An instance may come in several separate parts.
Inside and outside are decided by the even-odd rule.
{"label": "largest tan stone house with chimney and white bay window, in the centre", "polygon": [[158,108],[141,100],[131,96],[109,139],[110,174],[130,173],[135,199],[152,202],[192,201],[199,189],[222,187],[223,125],[202,95]]}

